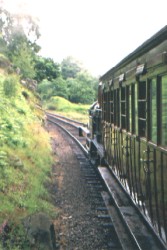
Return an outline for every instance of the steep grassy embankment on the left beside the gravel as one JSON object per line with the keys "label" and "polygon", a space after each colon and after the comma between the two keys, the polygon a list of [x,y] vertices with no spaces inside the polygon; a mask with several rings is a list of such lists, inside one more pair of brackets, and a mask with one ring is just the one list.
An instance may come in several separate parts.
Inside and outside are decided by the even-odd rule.
{"label": "steep grassy embankment on the left beside the gravel", "polygon": [[[0,70],[0,229],[4,223],[16,228],[38,211],[56,216],[46,189],[53,162],[50,138],[37,104],[18,76]],[[20,236],[13,232],[13,237]]]}

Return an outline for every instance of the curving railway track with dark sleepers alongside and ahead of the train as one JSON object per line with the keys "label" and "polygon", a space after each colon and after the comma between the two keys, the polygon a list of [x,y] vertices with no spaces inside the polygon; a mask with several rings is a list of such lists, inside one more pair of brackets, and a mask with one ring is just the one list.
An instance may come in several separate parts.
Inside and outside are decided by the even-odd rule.
{"label": "curving railway track with dark sleepers alongside and ahead of the train", "polygon": [[90,188],[95,209],[103,226],[107,227],[108,249],[117,250],[165,250],[165,244],[159,239],[149,223],[143,218],[128,194],[119,184],[107,166],[94,166],[88,160],[85,138],[79,137],[79,122],[46,113],[47,120],[59,126],[70,136],[80,166]]}

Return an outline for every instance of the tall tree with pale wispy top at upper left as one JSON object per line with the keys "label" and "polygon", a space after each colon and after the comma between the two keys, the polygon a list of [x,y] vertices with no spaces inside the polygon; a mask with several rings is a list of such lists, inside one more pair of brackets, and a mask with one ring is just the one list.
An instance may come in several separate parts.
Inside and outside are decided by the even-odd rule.
{"label": "tall tree with pale wispy top at upper left", "polygon": [[6,55],[23,78],[34,78],[34,58],[40,50],[36,44],[40,33],[35,19],[30,15],[12,15],[3,8],[0,14],[0,35]]}

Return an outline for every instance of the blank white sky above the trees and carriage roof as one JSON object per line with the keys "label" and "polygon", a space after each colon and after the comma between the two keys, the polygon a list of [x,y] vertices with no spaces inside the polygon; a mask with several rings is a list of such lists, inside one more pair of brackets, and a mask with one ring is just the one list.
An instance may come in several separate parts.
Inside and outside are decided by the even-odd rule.
{"label": "blank white sky above the trees and carriage roof", "polygon": [[101,76],[166,25],[167,0],[0,0],[38,17],[41,55],[73,56]]}

